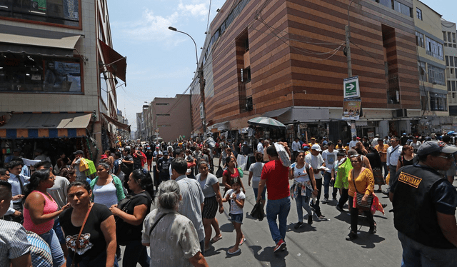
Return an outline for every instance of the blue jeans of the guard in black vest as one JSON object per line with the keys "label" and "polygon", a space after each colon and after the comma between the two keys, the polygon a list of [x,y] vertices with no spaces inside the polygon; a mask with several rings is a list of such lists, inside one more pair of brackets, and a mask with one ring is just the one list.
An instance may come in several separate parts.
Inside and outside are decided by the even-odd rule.
{"label": "blue jeans of the guard in black vest", "polygon": [[403,258],[401,267],[455,267],[457,266],[457,248],[432,248],[398,232]]}

